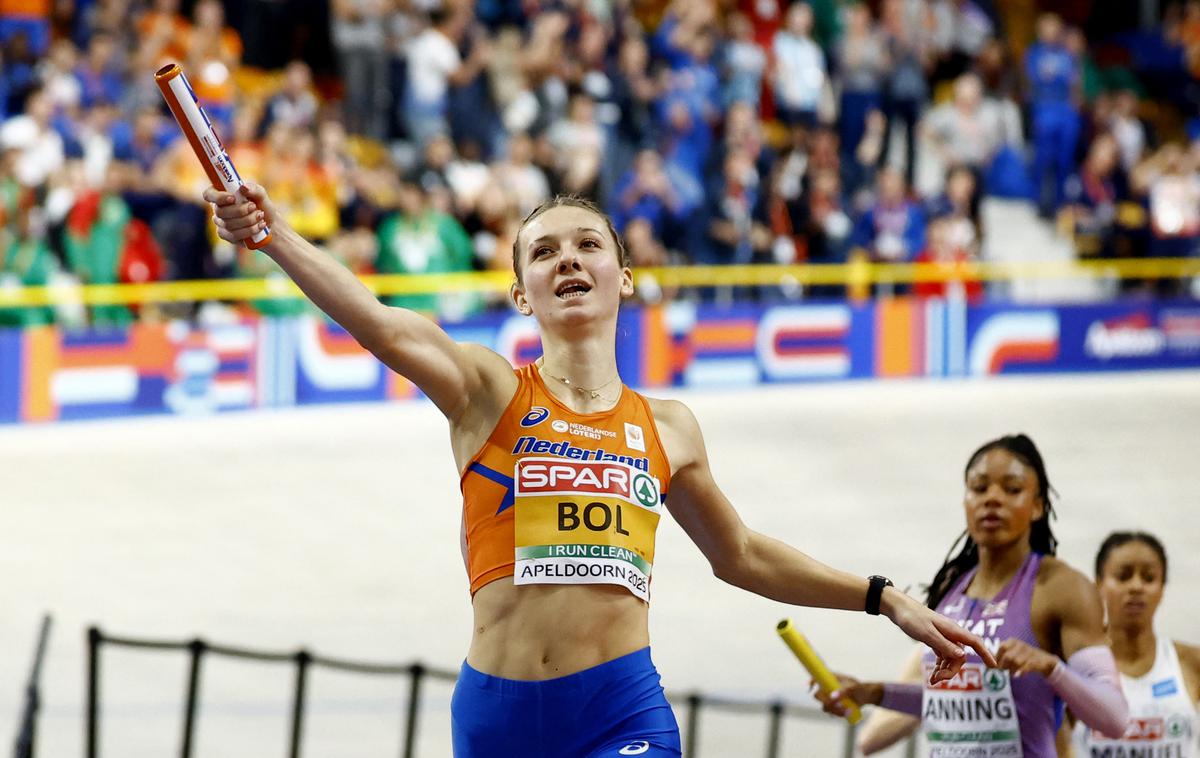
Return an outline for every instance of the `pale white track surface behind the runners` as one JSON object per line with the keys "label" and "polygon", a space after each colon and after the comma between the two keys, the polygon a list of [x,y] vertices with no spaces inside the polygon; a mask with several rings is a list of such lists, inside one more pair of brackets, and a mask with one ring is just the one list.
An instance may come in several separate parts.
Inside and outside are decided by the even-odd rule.
{"label": "pale white track surface behind the runners", "polygon": [[[752,527],[836,566],[926,580],[962,528],[961,469],[1026,431],[1062,495],[1061,555],[1088,571],[1111,529],[1166,542],[1166,633],[1200,642],[1200,374],[892,381],[682,393],[718,482]],[[12,745],[35,628],[55,615],[40,754],[82,756],[83,630],[307,645],[454,667],[469,632],[458,500],[427,404],[0,428],[0,745]],[[860,614],[788,609],[722,585],[670,521],[655,563],[666,685],[802,698],[775,638],[792,615],[836,668],[888,676],[908,642]],[[1188,598],[1188,594],[1192,598]],[[178,753],[185,656],[110,651],[103,754]],[[211,660],[196,754],[281,756],[289,669]],[[449,687],[428,687],[421,756],[449,756]],[[403,686],[318,672],[307,758],[398,754]],[[761,754],[763,722],[704,721],[704,758]],[[785,754],[833,754],[791,726]]]}

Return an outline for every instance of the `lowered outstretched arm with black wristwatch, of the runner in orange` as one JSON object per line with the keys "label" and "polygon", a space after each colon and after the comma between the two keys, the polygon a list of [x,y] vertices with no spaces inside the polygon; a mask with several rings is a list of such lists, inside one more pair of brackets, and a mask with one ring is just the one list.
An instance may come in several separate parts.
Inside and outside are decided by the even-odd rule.
{"label": "lowered outstretched arm with black wristwatch, of the runner in orange", "polygon": [[[667,509],[718,578],[793,606],[864,609],[865,578],[827,566],[742,522],[713,481],[700,425],[686,405],[659,401],[654,416],[672,465]],[[883,590],[880,608],[906,634],[937,654],[935,681],[958,673],[966,660],[962,645],[973,648],[989,664],[995,662],[982,639],[898,589]]]}

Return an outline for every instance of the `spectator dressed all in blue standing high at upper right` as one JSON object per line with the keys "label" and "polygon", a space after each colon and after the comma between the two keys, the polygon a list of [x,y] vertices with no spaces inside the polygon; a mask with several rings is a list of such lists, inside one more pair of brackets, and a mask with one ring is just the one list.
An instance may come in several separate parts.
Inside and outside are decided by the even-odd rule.
{"label": "spectator dressed all in blue standing high at upper right", "polygon": [[1050,217],[1063,197],[1080,131],[1079,61],[1063,42],[1062,20],[1054,13],[1038,19],[1038,41],[1025,54],[1033,125],[1033,178],[1038,209]]}

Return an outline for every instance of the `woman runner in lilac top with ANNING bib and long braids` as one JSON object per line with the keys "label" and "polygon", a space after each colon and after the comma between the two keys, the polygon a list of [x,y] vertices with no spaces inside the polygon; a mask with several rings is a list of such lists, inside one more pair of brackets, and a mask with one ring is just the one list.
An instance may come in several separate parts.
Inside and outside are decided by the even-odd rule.
{"label": "woman runner in lilac top with ANNING bib and long braids", "polygon": [[[982,636],[998,668],[970,657],[948,681],[859,682],[822,696],[919,716],[931,758],[1056,754],[1062,704],[1103,734],[1124,732],[1127,705],[1094,585],[1055,555],[1050,480],[1037,446],[1016,434],[967,461],[962,548],[937,571],[929,607]],[[958,542],[955,543],[958,546]],[[954,552],[954,547],[950,548]],[[932,658],[925,656],[926,670]]]}

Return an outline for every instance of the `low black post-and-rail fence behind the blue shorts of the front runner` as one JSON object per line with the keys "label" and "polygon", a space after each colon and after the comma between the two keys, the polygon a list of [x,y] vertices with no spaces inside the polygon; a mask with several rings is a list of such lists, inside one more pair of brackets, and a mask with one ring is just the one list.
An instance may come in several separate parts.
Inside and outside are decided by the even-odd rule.
{"label": "low black post-and-rail fence behind the blue shorts of the front runner", "polygon": [[[163,640],[115,637],[101,632],[92,626],[88,630],[88,714],[86,714],[86,758],[100,756],[100,699],[101,699],[101,648],[116,645],[122,648],[140,648],[144,650],[178,650],[190,656],[187,692],[184,699],[184,734],[180,738],[181,758],[191,758],[196,734],[197,710],[199,708],[199,686],[206,655],[264,661],[271,663],[290,663],[295,667],[295,686],[292,694],[290,729],[288,732],[288,756],[299,758],[304,741],[305,698],[307,696],[307,678],[312,667],[323,667],[341,672],[406,676],[408,678],[408,698],[403,712],[403,758],[416,757],[416,732],[421,716],[421,685],[426,679],[452,682],[458,678],[455,670],[434,668],[420,662],[414,663],[365,663],[332,658],[301,649],[294,652],[272,652],[218,645],[203,639]],[[782,727],[785,718],[821,721],[826,726],[829,717],[814,708],[806,708],[784,700],[736,700],[703,693],[667,693],[668,699],[683,714],[684,756],[700,758],[700,722],[704,711],[726,711],[737,714],[762,714],[767,717],[767,758],[779,758],[782,750]],[[911,756],[913,746],[910,742]],[[850,758],[854,752],[854,727],[846,724],[840,754]]]}

